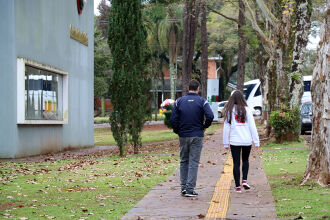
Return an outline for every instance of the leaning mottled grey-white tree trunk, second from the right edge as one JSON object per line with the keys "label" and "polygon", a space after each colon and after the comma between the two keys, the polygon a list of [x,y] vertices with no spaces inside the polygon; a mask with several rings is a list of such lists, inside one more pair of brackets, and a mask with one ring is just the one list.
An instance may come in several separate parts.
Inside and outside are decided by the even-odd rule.
{"label": "leaning mottled grey-white tree trunk, second from the right edge", "polygon": [[304,67],[304,54],[308,42],[309,29],[311,26],[312,3],[310,0],[296,0],[296,28],[295,42],[292,55],[290,79],[290,107],[300,106],[301,97],[304,93],[302,68]]}

